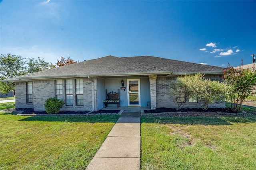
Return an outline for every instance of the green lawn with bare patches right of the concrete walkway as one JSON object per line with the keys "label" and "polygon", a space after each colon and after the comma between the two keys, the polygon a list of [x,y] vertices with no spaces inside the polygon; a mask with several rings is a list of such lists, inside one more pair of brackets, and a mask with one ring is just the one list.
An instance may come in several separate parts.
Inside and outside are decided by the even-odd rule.
{"label": "green lawn with bare patches right of the concrete walkway", "polygon": [[254,170],[256,116],[141,117],[142,170]]}

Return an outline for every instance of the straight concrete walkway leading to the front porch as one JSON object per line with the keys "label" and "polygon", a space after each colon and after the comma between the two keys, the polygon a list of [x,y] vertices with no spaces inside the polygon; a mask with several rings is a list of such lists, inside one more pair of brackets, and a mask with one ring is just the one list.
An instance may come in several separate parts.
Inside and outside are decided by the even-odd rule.
{"label": "straight concrete walkway leading to the front porch", "polygon": [[86,170],[140,169],[140,111],[124,111]]}

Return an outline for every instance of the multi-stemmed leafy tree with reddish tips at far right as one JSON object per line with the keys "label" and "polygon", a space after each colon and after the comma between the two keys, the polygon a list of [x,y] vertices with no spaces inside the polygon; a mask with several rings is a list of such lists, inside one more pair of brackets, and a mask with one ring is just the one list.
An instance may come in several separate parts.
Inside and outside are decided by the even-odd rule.
{"label": "multi-stemmed leafy tree with reddish tips at far right", "polygon": [[[227,70],[224,71],[224,80],[228,84],[228,92],[226,98],[232,102],[233,111],[241,112],[244,100],[253,94],[256,85],[255,68],[239,67],[234,69],[228,64]],[[238,107],[239,105],[239,107]]]}

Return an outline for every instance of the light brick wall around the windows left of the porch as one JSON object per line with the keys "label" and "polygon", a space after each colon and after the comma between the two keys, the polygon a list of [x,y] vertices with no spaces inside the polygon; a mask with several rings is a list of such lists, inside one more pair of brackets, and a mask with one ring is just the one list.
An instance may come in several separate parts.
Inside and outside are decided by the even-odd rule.
{"label": "light brick wall around the windows left of the porch", "polygon": [[[84,78],[84,106],[76,106],[76,86],[73,80],[73,106],[63,106],[60,111],[91,111],[92,110],[92,82]],[[55,80],[34,80],[33,81],[33,103],[27,103],[26,82],[16,82],[16,108],[34,108],[34,111],[45,111],[44,104],[48,98],[56,97]],[[62,80],[62,97],[65,96],[65,81]],[[96,86],[94,80],[94,110],[97,103]]]}

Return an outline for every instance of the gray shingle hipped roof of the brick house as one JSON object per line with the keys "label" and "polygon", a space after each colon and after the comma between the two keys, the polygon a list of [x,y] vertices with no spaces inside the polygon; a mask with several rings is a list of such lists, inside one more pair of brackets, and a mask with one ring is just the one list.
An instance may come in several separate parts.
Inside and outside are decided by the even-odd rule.
{"label": "gray shingle hipped roof of the brick house", "polygon": [[[176,61],[151,56],[114,57],[106,56],[80,63],[61,66],[50,70],[34,72],[17,77],[21,80],[58,77],[82,76],[120,76],[120,75],[148,75],[170,74],[182,75],[189,73],[221,74],[225,68],[209,66],[184,61]],[[10,79],[9,79],[10,80]],[[13,78],[12,78],[13,80]]]}

